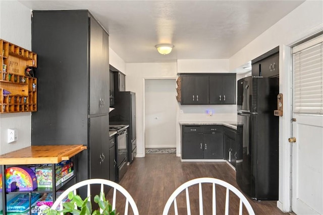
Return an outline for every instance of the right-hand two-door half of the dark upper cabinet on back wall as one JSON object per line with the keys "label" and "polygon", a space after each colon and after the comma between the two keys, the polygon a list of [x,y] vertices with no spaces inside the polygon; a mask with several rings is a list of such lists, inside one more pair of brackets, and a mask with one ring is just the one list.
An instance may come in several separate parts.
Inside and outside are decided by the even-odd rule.
{"label": "right-hand two-door half of the dark upper cabinet on back wall", "polygon": [[210,104],[236,104],[236,74],[210,76]]}

